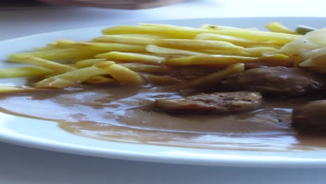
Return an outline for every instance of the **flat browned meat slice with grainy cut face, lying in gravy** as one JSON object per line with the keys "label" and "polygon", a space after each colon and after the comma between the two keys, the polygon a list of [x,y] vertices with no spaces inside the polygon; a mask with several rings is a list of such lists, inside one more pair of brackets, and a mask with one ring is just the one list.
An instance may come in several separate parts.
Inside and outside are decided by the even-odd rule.
{"label": "flat browned meat slice with grainy cut face, lying in gravy", "polygon": [[261,94],[247,91],[199,94],[160,99],[155,107],[167,112],[248,112],[261,105]]}

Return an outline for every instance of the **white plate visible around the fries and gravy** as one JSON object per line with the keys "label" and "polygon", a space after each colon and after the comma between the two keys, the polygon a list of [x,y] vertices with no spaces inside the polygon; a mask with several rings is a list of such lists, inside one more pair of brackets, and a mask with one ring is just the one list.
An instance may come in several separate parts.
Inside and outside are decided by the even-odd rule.
{"label": "white plate visible around the fries and gravy", "polygon": [[[261,28],[267,22],[281,22],[290,28],[294,28],[298,24],[320,28],[325,21],[326,19],[321,17],[252,17],[164,20],[155,23],[186,26],[200,26],[208,23]],[[42,46],[63,38],[88,40],[99,36],[100,30],[106,26],[56,31],[1,41],[0,66],[1,68],[8,66],[7,63],[2,63],[6,61],[8,54],[29,51],[31,47]],[[1,83],[3,82],[1,81]],[[6,82],[18,84],[21,81],[20,79],[8,79]],[[0,113],[0,140],[51,151],[125,160],[239,167],[326,167],[326,149],[318,151],[230,151],[127,144],[80,137],[61,130],[52,121],[40,121],[2,113]]]}

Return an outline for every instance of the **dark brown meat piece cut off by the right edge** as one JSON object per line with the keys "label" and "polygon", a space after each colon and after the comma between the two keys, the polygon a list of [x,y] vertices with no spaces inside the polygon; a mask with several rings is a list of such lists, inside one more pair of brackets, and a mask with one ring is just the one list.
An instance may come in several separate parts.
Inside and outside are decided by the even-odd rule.
{"label": "dark brown meat piece cut off by the right edge", "polygon": [[291,125],[304,134],[326,134],[326,100],[317,100],[293,109]]}

